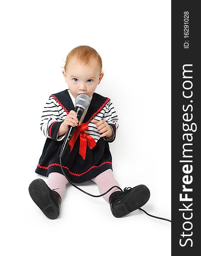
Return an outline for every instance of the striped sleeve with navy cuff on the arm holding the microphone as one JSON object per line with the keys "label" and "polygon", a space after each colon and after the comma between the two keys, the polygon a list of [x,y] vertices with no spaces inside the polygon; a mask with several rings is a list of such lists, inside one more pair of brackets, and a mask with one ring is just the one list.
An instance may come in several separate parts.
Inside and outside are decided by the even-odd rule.
{"label": "striped sleeve with navy cuff on the arm holding the microphone", "polygon": [[62,115],[62,107],[58,105],[54,97],[50,96],[43,108],[40,123],[40,130],[47,138],[60,141],[65,136],[65,134],[63,134],[57,137],[60,125],[63,122]]}

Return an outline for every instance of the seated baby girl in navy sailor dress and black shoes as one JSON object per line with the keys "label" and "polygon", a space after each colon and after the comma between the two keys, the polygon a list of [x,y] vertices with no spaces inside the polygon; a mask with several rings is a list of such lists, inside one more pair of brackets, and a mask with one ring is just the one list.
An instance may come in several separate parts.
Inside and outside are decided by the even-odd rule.
{"label": "seated baby girl in navy sailor dress and black shoes", "polygon": [[[49,96],[40,124],[47,139],[35,172],[48,180],[47,183],[40,178],[32,181],[31,198],[48,218],[57,218],[68,177],[73,183],[92,180],[100,194],[117,186],[103,195],[117,218],[139,209],[149,200],[149,189],[138,185],[122,190],[113,175],[109,143],[116,137],[118,115],[111,99],[95,93],[104,75],[100,55],[86,45],[75,47],[67,55],[62,72],[69,89]],[[86,94],[90,100],[80,121],[74,111],[79,94]],[[59,154],[69,126],[76,129],[62,157],[65,177]]]}

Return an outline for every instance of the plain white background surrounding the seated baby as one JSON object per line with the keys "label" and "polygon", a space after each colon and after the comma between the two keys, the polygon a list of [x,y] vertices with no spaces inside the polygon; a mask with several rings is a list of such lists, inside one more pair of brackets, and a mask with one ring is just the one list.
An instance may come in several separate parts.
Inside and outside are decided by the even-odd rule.
{"label": "plain white background surrounding the seated baby", "polygon": [[[115,218],[103,198],[67,186],[50,220],[29,196],[46,138],[40,117],[49,95],[67,87],[66,55],[78,45],[103,60],[96,90],[118,113],[110,143],[121,187],[145,184],[142,207],[171,218],[170,1],[6,1],[0,4],[1,255],[171,254],[171,224],[140,210]],[[91,181],[80,187],[98,195]]]}

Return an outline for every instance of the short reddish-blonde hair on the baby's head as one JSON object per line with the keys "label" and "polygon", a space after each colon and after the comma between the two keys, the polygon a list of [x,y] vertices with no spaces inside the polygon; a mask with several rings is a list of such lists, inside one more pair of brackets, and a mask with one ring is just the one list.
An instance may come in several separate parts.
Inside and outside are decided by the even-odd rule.
{"label": "short reddish-blonde hair on the baby's head", "polygon": [[91,59],[97,59],[99,64],[100,64],[100,72],[102,70],[102,59],[100,57],[100,55],[98,54],[98,52],[87,45],[80,45],[78,47],[75,47],[74,49],[72,49],[69,54],[66,57],[66,62],[64,65],[64,70],[66,70],[66,67],[69,64],[69,61],[72,59],[72,57],[77,57],[77,59],[80,61],[80,63],[83,64],[89,64],[89,61]]}

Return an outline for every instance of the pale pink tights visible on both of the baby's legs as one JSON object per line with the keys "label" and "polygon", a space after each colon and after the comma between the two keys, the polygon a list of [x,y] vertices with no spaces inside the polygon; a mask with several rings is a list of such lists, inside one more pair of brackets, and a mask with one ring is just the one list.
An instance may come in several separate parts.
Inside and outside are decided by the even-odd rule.
{"label": "pale pink tights visible on both of the baby's legs", "polygon": [[[100,194],[103,194],[112,186],[119,186],[119,183],[117,182],[117,180],[115,180],[112,169],[107,169],[105,172],[102,172],[97,177],[93,178],[92,181],[98,185]],[[65,195],[66,184],[68,183],[69,181],[66,179],[66,177],[57,172],[51,172],[47,180],[47,185],[49,186],[49,188],[55,189],[55,191],[59,193],[61,198],[63,198],[63,196]],[[120,189],[113,188],[106,195],[103,195],[103,198],[106,200],[106,202],[109,203],[109,196],[115,191],[120,191]]]}

